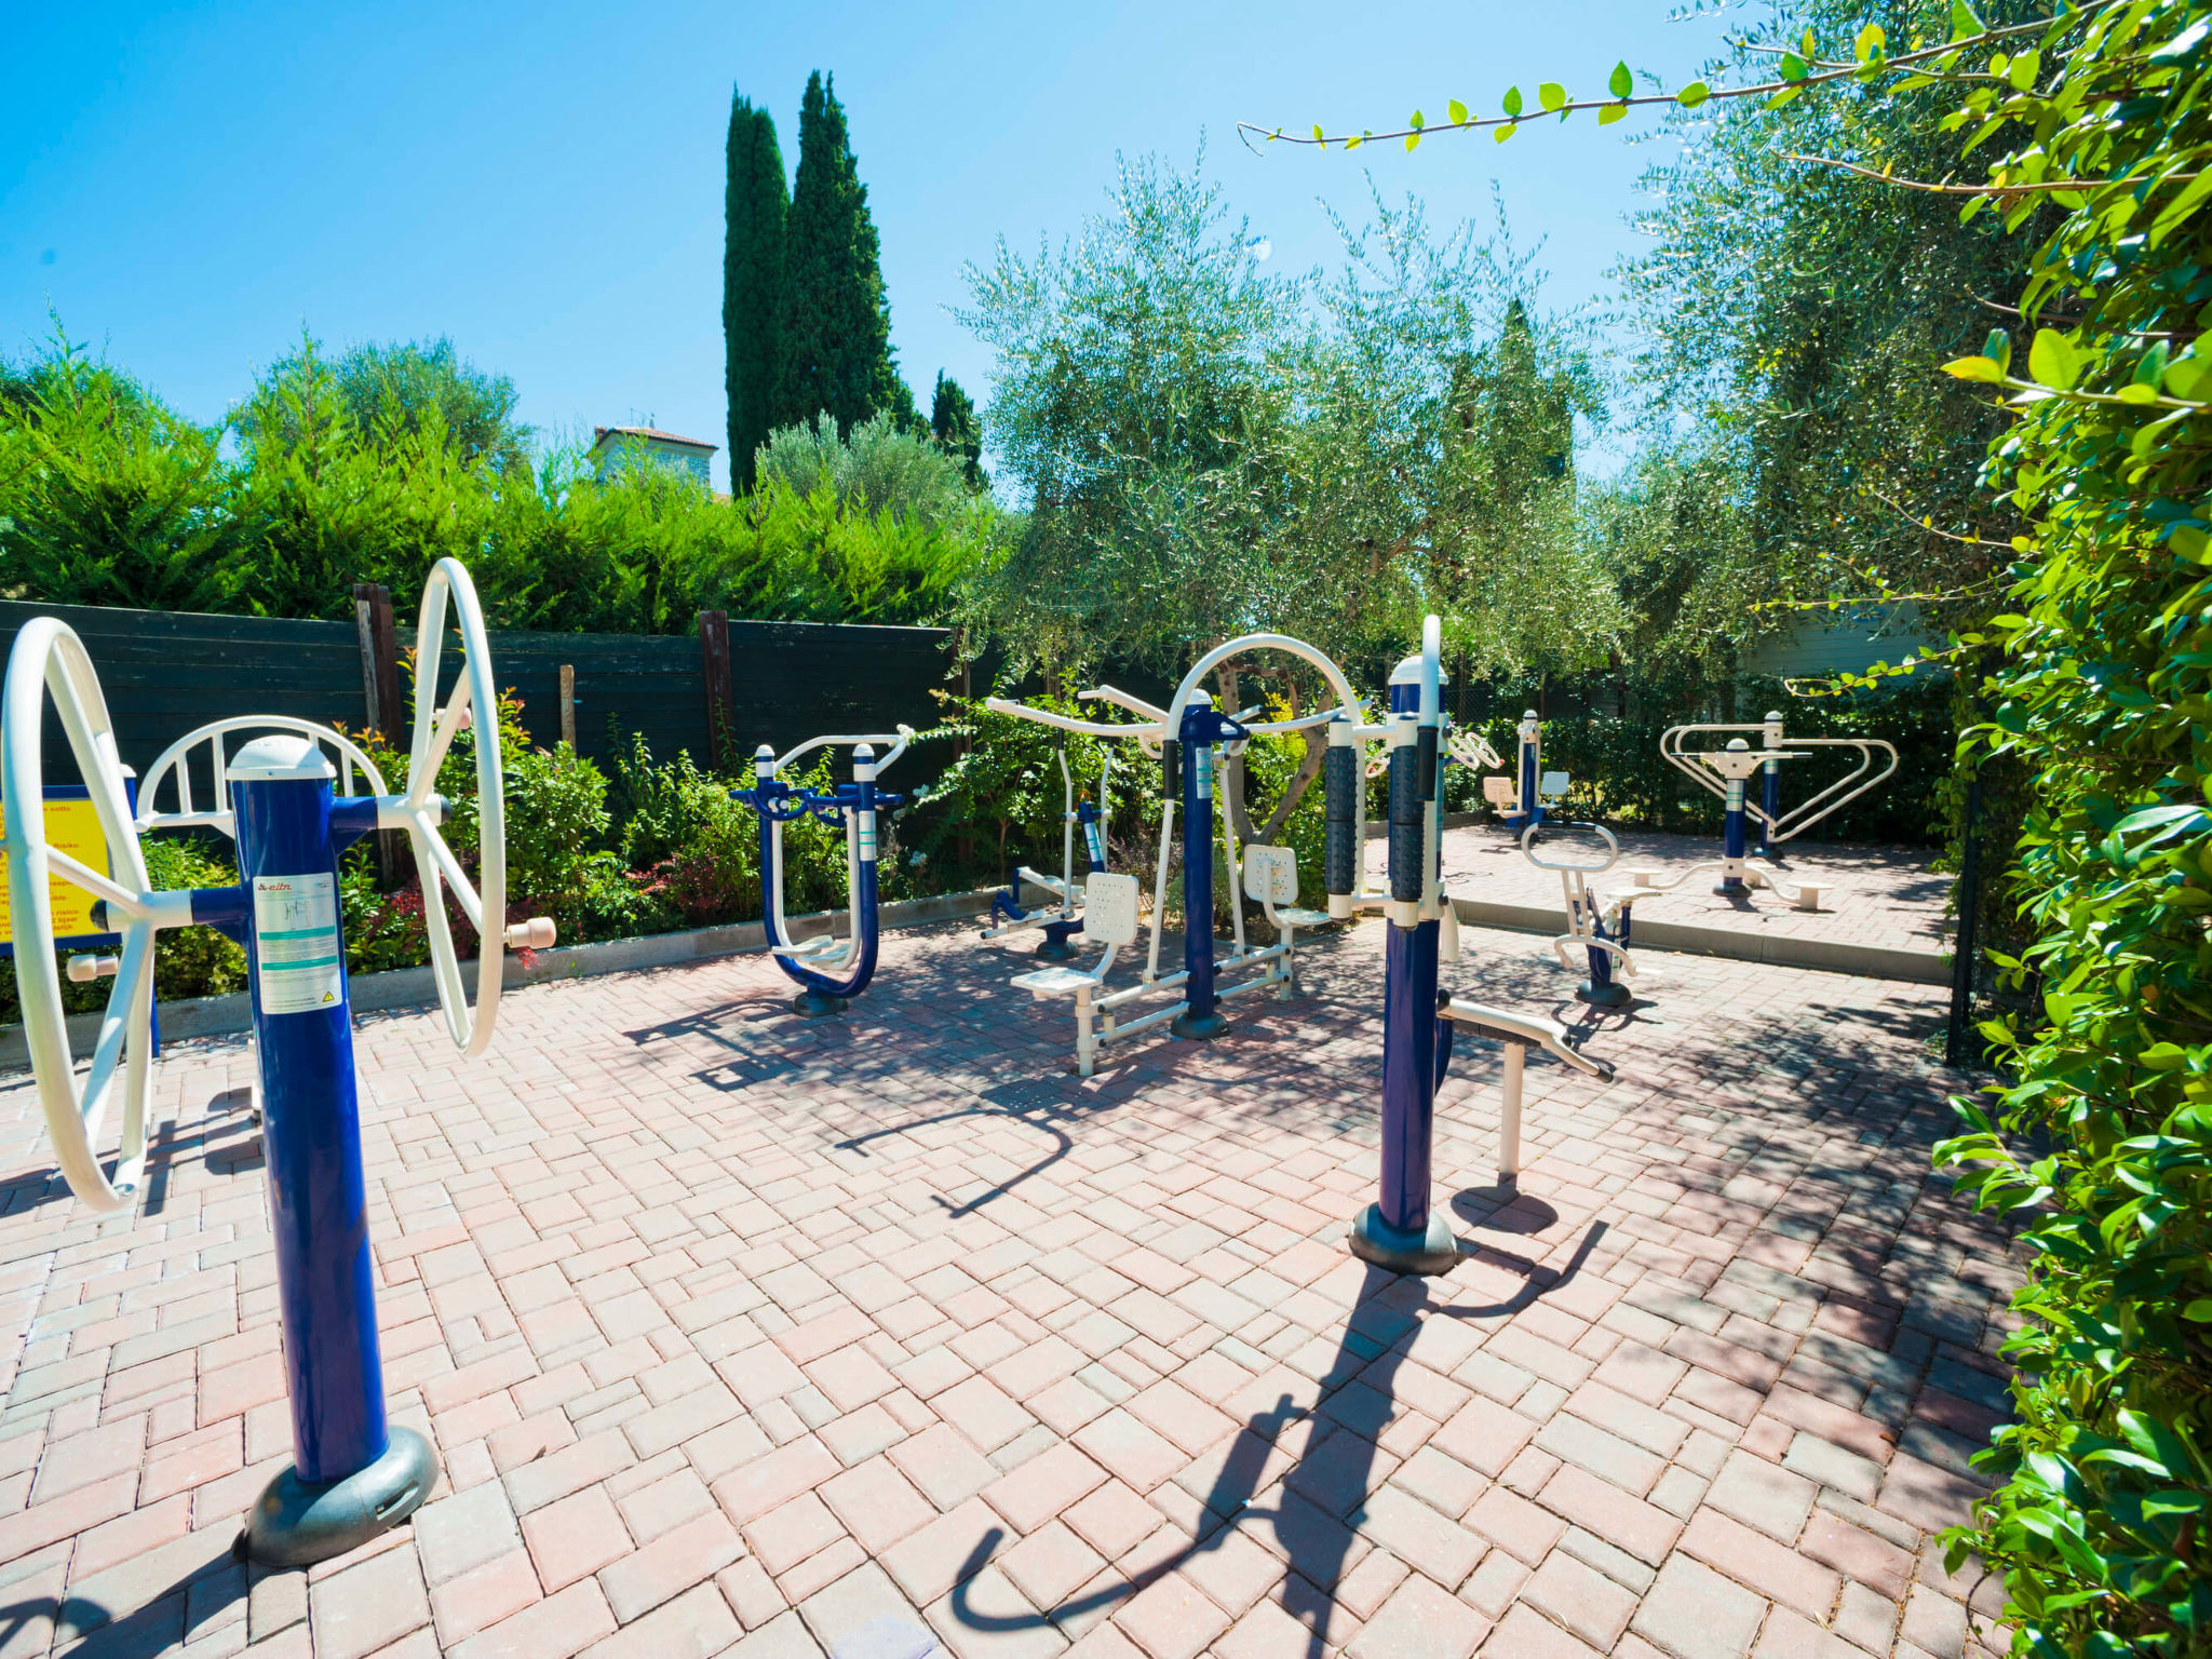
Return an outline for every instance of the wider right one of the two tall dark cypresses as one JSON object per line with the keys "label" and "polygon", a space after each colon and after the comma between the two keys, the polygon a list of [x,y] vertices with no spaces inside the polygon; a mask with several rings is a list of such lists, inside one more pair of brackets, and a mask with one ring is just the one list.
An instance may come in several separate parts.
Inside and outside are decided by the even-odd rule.
{"label": "wider right one of the two tall dark cypresses", "polygon": [[799,181],[783,241],[783,307],[772,422],[827,409],[852,431],[878,409],[914,422],[914,394],[891,358],[876,221],[845,135],[834,77],[814,71],[799,106]]}

